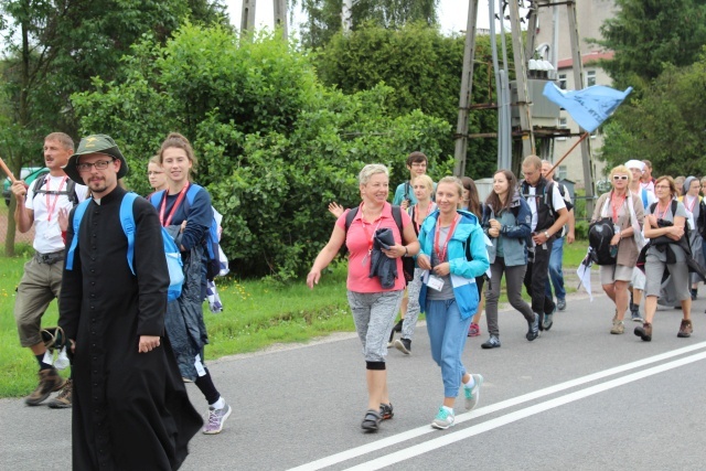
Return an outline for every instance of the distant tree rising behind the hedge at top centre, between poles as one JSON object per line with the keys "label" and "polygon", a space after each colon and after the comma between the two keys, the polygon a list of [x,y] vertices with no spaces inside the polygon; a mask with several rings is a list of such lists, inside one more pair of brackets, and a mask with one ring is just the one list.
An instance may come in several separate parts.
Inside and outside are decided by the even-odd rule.
{"label": "distant tree rising behind the hedge at top centre, between poles", "polygon": [[[291,2],[291,8],[301,4],[308,19],[301,26],[302,42],[308,47],[325,45],[342,30],[342,0],[301,0]],[[351,11],[352,29],[365,23],[396,29],[420,21],[427,25],[437,23],[439,0],[360,0]]]}

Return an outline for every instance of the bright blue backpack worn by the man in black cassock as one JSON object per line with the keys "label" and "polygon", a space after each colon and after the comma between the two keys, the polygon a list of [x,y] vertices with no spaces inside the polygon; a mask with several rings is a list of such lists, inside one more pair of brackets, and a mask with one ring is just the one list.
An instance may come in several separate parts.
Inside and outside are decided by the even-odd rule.
{"label": "bright blue backpack worn by the man in black cassock", "polygon": [[[135,214],[132,213],[132,204],[135,200],[137,200],[139,195],[137,193],[127,193],[120,203],[120,225],[122,226],[122,232],[128,239],[128,266],[130,267],[130,271],[132,275],[135,272],[133,259],[135,259]],[[65,267],[67,270],[73,270],[74,268],[74,251],[76,250],[76,246],[78,245],[78,229],[81,228],[81,221],[86,213],[86,208],[88,207],[88,203],[90,200],[85,200],[74,211],[74,238],[71,242],[71,247],[68,247],[68,253],[66,254],[66,264]],[[169,269],[169,288],[167,290],[167,301],[171,302],[176,300],[181,296],[181,287],[184,283],[184,270],[183,264],[181,261],[181,253],[179,251],[179,247],[174,244],[174,239],[167,232],[164,227],[162,227],[162,245],[164,247],[164,257],[167,258],[167,268]]]}

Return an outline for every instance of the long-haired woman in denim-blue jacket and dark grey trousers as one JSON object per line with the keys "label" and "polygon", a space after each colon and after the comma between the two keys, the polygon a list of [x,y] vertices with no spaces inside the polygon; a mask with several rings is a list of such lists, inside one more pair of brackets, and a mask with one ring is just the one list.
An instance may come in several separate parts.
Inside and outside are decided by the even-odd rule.
{"label": "long-haired woman in denim-blue jacket and dark grey trousers", "polygon": [[493,175],[493,191],[485,203],[491,207],[493,217],[489,221],[485,233],[493,243],[489,248],[491,260],[490,281],[485,299],[485,320],[490,339],[481,347],[500,346],[500,329],[498,328],[498,298],[500,282],[505,275],[507,300],[510,304],[525,317],[528,330],[525,338],[533,341],[539,334],[539,317],[532,307],[522,299],[522,286],[527,269],[527,237],[532,212],[530,205],[517,191],[517,179],[510,170],[499,170]]}

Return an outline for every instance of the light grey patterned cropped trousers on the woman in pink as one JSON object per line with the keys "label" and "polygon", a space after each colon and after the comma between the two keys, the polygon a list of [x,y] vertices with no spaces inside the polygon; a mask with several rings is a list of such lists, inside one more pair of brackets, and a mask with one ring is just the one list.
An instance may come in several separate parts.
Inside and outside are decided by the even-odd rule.
{"label": "light grey patterned cropped trousers on the woman in pink", "polygon": [[349,306],[366,362],[384,362],[387,339],[405,290],[385,292],[349,291]]}

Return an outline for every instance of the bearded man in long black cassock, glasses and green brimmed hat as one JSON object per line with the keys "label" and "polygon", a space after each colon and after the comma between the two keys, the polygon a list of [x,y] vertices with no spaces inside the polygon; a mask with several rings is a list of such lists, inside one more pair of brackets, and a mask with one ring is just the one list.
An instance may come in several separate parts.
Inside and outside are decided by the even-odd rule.
{"label": "bearded man in long black cassock, glasses and green brimmed hat", "polygon": [[202,426],[164,334],[169,274],[157,211],[143,199],[132,206],[136,275],[128,265],[118,185],[127,170],[105,135],[82,139],[64,168],[93,194],[60,302],[58,325],[74,343],[74,470],[175,470]]}

